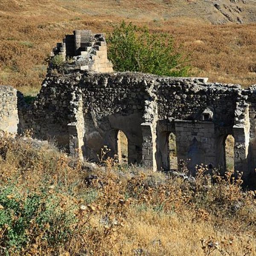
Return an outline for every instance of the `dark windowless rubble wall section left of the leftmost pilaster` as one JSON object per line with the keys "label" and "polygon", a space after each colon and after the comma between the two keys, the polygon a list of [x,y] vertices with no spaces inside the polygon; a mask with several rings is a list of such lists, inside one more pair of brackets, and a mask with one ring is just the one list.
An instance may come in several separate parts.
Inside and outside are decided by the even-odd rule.
{"label": "dark windowless rubble wall section left of the leftmost pilaster", "polygon": [[20,111],[22,130],[32,129],[35,137],[68,148],[67,125],[75,121],[80,77],[79,73],[48,74],[32,105]]}

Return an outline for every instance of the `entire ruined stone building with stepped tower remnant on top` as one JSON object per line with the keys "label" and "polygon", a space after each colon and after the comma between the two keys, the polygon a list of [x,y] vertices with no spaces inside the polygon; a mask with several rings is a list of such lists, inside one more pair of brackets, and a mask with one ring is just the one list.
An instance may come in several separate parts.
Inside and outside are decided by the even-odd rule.
{"label": "entire ruined stone building with stepped tower remnant on top", "polygon": [[33,129],[70,154],[97,161],[104,145],[120,157],[118,132],[128,139],[128,162],[168,170],[169,134],[178,161],[226,170],[225,140],[233,135],[235,170],[251,180],[256,168],[256,86],[207,83],[207,79],[113,72],[105,38],[75,31],[53,55],[73,57],[49,68],[32,105],[12,87],[0,87],[0,129]]}

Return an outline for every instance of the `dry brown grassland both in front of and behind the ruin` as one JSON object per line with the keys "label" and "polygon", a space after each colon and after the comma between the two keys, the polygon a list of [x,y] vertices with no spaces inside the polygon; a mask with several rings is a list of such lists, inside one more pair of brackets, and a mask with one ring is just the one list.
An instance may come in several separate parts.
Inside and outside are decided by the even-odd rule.
{"label": "dry brown grassland both in front of and behind the ruin", "polygon": [[[170,32],[190,56],[192,76],[256,84],[254,12],[243,25],[213,25],[223,17],[203,2],[0,0],[0,84],[35,95],[47,56],[65,34],[109,32],[122,20]],[[121,145],[126,158],[125,136]],[[232,147],[228,138],[229,169]],[[241,180],[232,183],[230,172],[213,182],[201,168],[189,183],[113,160],[86,164],[52,145],[0,140],[0,255],[256,255],[255,193],[242,191]]]}

